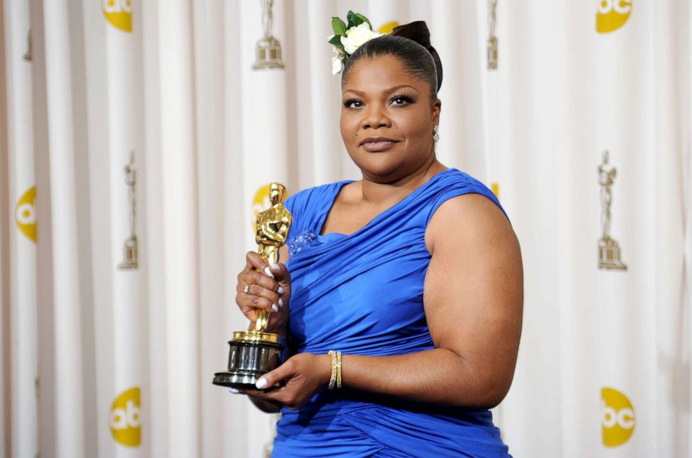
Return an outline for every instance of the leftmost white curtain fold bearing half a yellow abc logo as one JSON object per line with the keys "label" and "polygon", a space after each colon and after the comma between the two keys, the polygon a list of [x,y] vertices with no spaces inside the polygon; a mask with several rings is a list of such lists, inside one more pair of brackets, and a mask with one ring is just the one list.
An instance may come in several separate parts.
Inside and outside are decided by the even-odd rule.
{"label": "leftmost white curtain fold bearing half a yellow abc logo", "polygon": [[38,452],[36,187],[33,175],[29,4],[5,1],[7,152],[10,229],[11,456]]}

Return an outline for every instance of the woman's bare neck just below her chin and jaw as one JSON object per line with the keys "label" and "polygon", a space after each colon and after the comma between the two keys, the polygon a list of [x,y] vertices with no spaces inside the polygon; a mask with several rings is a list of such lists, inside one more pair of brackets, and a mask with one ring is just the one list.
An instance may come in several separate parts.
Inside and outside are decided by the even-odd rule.
{"label": "woman's bare neck just below her chin and jaw", "polygon": [[430,154],[428,160],[405,177],[394,179],[391,182],[376,182],[363,175],[361,192],[363,202],[371,204],[386,204],[398,202],[407,195],[428,182],[433,175],[441,172],[446,167],[437,161],[435,154]]}

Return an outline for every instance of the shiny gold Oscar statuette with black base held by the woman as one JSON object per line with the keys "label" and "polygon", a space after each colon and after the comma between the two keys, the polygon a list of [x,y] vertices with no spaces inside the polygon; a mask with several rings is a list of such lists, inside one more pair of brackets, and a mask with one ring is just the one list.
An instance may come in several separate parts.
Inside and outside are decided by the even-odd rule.
{"label": "shiny gold Oscar statuette with black base held by the woman", "polygon": [[[269,201],[271,206],[257,214],[257,253],[266,263],[278,263],[279,248],[286,243],[288,230],[293,221],[292,214],[283,205],[286,188],[283,184],[269,185]],[[249,294],[246,285],[246,294]],[[228,342],[228,370],[214,374],[213,384],[242,387],[255,385],[257,378],[279,367],[283,362],[283,337],[266,332],[269,325],[270,313],[266,309],[257,310],[255,327],[249,331],[236,331],[233,340]]]}

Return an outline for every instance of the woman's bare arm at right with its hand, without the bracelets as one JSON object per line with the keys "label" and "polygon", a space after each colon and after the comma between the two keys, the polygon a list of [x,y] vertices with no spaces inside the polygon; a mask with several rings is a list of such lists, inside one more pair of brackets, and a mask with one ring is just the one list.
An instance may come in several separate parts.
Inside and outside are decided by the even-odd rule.
{"label": "woman's bare arm at right with its hand, without the bracelets", "polygon": [[[418,403],[490,408],[509,390],[521,334],[519,244],[504,214],[487,198],[462,195],[430,221],[432,259],[424,306],[437,348],[410,355],[343,356],[345,387]],[[319,371],[315,371],[319,364]],[[329,381],[329,357],[296,355],[266,375],[303,378],[264,397],[296,408]],[[308,377],[310,368],[313,375]],[[307,396],[307,399],[305,399]]]}

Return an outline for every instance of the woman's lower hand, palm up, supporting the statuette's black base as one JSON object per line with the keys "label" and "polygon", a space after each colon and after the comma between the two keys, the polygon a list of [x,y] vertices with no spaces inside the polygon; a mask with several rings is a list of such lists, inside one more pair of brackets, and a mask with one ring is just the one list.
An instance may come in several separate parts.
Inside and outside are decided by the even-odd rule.
{"label": "woman's lower hand, palm up, supporting the statuette's black base", "polygon": [[[289,409],[304,406],[315,393],[329,385],[331,356],[299,353],[257,381],[261,389],[240,389],[250,397],[278,402]],[[276,383],[283,381],[283,386]]]}

